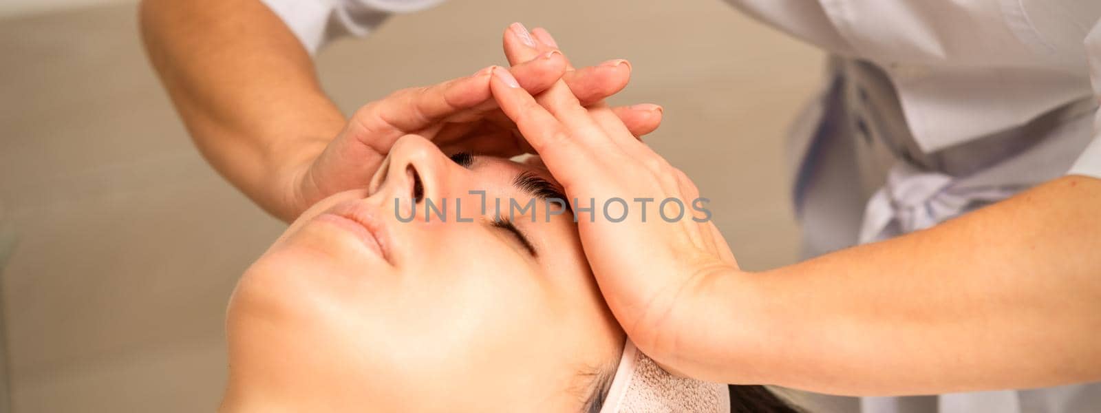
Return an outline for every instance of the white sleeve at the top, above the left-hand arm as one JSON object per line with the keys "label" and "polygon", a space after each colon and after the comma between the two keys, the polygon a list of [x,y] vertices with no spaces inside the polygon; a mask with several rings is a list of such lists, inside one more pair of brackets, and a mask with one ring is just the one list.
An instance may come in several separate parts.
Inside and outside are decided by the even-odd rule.
{"label": "white sleeve at the top, above the left-hand arm", "polygon": [[313,55],[329,41],[364,36],[391,13],[408,13],[444,0],[261,0],[283,19]]}

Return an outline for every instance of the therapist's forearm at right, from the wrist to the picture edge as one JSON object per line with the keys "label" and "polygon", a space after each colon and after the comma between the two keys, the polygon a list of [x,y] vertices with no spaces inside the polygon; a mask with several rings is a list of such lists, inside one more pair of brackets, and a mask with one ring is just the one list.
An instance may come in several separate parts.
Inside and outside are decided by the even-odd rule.
{"label": "therapist's forearm at right, from the wrist to the picture edge", "polygon": [[1064,177],[928,230],[717,281],[727,322],[751,327],[728,327],[738,345],[717,357],[732,380],[846,394],[1099,380],[1098,211],[1101,180]]}

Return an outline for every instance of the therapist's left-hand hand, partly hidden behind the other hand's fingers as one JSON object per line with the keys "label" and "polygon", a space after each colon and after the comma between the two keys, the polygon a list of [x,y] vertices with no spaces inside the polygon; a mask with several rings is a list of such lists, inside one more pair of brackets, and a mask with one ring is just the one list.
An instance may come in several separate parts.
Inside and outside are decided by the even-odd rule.
{"label": "therapist's left-hand hand, partly hidden behind the other hand's fingers", "polygon": [[[511,25],[504,36],[506,55],[513,64],[510,70],[528,93],[542,93],[560,79],[582,105],[588,105],[618,93],[630,78],[630,68],[620,65],[621,61],[574,69],[555,45],[535,40],[519,23]],[[533,53],[517,53],[517,47],[509,45],[524,46]],[[292,165],[288,175],[293,186],[279,215],[293,219],[330,194],[362,186],[394,141],[408,133],[428,138],[447,153],[514,156],[532,152],[492,99],[489,79],[487,68],[438,85],[403,89],[360,108],[324,151]],[[640,105],[612,112],[630,133],[642,135],[661,123],[661,110],[655,108]]]}

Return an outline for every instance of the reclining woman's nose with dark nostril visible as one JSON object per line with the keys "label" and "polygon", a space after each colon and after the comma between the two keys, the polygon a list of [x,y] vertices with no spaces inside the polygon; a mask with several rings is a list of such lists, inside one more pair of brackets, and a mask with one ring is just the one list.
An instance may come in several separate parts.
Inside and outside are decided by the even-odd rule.
{"label": "reclining woman's nose with dark nostril visible", "polygon": [[446,196],[443,192],[450,167],[450,161],[434,143],[406,134],[394,142],[368,191],[371,196],[401,199],[403,205],[408,205],[408,199],[413,204],[426,197],[438,200]]}

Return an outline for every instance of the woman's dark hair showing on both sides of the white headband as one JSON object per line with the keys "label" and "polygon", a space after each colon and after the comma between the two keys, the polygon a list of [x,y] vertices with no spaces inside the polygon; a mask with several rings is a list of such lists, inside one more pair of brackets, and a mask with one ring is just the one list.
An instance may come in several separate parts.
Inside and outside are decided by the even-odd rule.
{"label": "woman's dark hair showing on both sides of the white headband", "polygon": [[[592,377],[582,413],[600,413],[611,390],[615,376],[611,369],[597,369],[586,376]],[[781,399],[764,385],[729,385],[730,413],[802,413],[799,409]]]}

